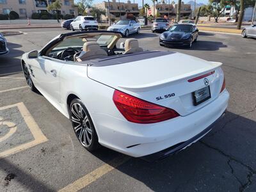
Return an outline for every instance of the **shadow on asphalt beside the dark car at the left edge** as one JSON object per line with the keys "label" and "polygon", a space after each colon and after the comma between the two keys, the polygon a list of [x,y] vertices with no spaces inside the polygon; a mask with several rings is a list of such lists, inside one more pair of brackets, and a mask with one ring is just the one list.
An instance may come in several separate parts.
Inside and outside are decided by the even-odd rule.
{"label": "shadow on asphalt beside the dark car at the left edge", "polygon": [[24,51],[18,49],[22,45],[7,42],[7,47],[9,53],[0,56],[0,75],[22,71],[20,57],[24,54]]}

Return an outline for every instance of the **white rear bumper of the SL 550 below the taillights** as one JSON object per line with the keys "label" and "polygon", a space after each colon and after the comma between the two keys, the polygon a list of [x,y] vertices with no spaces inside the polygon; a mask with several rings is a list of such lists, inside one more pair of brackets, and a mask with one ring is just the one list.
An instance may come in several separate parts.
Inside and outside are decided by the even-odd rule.
{"label": "white rear bumper of the SL 550 below the taillights", "polygon": [[[134,124],[127,120],[115,118],[103,113],[93,113],[93,124],[99,136],[99,143],[105,147],[132,157],[143,157],[157,152],[167,156],[175,145],[185,147],[200,138],[201,132],[211,127],[225,112],[228,106],[229,93],[224,90],[218,98],[201,109],[186,115],[156,124]],[[109,108],[115,106],[109,106]],[[205,131],[206,132],[206,131]],[[195,138],[196,137],[196,138]],[[184,148],[174,147],[175,151]],[[145,157],[143,157],[145,159]],[[147,159],[147,157],[146,157]],[[150,157],[150,159],[154,159]]]}

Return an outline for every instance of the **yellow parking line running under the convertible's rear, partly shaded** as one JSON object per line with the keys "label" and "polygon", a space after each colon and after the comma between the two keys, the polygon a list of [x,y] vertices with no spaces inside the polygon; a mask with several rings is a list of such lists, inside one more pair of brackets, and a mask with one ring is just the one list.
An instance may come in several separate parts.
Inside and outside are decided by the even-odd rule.
{"label": "yellow parking line running under the convertible's rear, partly shaded", "polygon": [[65,188],[60,189],[58,192],[79,191],[85,188],[86,186],[88,186],[89,184],[91,184],[92,182],[95,182],[95,180],[99,179],[106,173],[111,172],[116,167],[120,166],[121,164],[124,164],[129,159],[131,159],[131,157],[127,157],[127,156],[116,157],[108,164],[103,164],[93,172],[88,173],[87,175],[84,175],[80,179],[77,179],[75,182],[72,182],[72,184],[69,184]]}

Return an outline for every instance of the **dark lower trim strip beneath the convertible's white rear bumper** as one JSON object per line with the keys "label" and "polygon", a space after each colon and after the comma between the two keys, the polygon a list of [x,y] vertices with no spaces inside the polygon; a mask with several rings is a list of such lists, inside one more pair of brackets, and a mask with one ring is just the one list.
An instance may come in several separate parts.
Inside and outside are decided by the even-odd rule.
{"label": "dark lower trim strip beneath the convertible's white rear bumper", "polygon": [[146,161],[152,162],[152,161],[157,161],[157,160],[164,159],[164,158],[166,158],[168,156],[171,156],[172,154],[176,154],[177,152],[180,152],[180,150],[183,150],[186,147],[189,147],[191,144],[193,144],[196,141],[200,140],[208,132],[210,132],[212,130],[212,128],[214,127],[214,125],[216,124],[216,122],[218,122],[218,120],[220,120],[221,118],[223,118],[223,116],[225,116],[225,113],[226,113],[226,111],[224,113],[222,113],[220,118],[218,118],[214,123],[212,123],[209,127],[204,129],[204,131],[196,134],[196,136],[193,136],[193,138],[191,138],[191,139],[189,139],[187,141],[184,141],[182,143],[178,143],[176,145],[173,145],[172,147],[166,148],[166,149],[161,150],[159,152],[156,152],[154,154],[150,154],[148,156],[143,156],[143,157],[140,157],[140,158],[144,159]]}

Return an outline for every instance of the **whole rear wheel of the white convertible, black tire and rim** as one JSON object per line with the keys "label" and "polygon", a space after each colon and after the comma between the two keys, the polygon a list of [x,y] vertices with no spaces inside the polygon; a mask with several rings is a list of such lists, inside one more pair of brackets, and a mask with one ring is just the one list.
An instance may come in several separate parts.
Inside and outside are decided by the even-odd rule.
{"label": "whole rear wheel of the white convertible, black tire and rim", "polygon": [[73,99],[69,107],[72,127],[81,145],[88,151],[99,148],[97,132],[83,102],[80,99]]}

